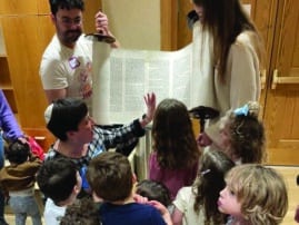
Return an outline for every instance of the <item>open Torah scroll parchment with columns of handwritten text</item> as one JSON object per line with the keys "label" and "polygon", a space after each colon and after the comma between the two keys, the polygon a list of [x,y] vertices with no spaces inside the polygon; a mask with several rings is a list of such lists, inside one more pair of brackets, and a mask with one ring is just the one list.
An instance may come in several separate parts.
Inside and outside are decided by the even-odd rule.
{"label": "open Torah scroll parchment with columns of handwritten text", "polygon": [[[209,71],[199,71],[196,66],[200,63],[200,52],[208,51],[199,43],[202,41],[178,51],[155,51],[111,49],[104,42],[93,41],[94,120],[122,124],[140,117],[146,110],[143,95],[147,92],[156,94],[157,104],[165,98],[177,98],[188,108],[200,105],[205,87],[199,84],[198,75]],[[208,63],[206,59],[205,63]]]}

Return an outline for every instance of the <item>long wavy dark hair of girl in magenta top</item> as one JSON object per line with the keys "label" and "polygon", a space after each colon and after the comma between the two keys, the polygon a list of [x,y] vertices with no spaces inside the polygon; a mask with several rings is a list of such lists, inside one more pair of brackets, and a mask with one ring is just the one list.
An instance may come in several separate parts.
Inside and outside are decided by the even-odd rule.
{"label": "long wavy dark hair of girl in magenta top", "polygon": [[187,107],[177,99],[163,99],[152,123],[153,150],[159,166],[181,169],[198,163],[200,151]]}

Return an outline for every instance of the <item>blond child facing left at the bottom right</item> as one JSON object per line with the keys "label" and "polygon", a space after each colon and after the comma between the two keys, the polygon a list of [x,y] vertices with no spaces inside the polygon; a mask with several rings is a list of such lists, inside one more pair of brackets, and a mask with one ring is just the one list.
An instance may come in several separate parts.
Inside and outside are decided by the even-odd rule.
{"label": "blond child facing left at the bottom right", "polygon": [[276,225],[288,211],[288,193],[282,177],[272,168],[245,164],[226,176],[218,208],[230,214],[229,225]]}

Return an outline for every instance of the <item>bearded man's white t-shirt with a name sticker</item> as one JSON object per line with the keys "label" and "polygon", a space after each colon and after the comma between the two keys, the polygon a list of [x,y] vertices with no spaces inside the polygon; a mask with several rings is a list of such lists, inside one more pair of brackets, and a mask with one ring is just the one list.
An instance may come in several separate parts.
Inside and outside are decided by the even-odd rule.
{"label": "bearded man's white t-shirt with a name sticker", "polygon": [[40,77],[44,90],[67,88],[67,97],[83,99],[91,106],[92,96],[92,41],[83,35],[73,49],[59,41],[57,35],[46,48],[41,63]]}

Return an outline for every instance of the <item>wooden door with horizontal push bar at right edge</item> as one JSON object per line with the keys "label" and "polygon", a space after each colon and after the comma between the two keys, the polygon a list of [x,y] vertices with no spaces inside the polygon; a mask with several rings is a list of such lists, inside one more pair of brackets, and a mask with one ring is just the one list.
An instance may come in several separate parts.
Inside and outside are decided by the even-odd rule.
{"label": "wooden door with horizontal push bar at right edge", "polygon": [[265,106],[270,164],[299,165],[299,1],[278,1]]}

